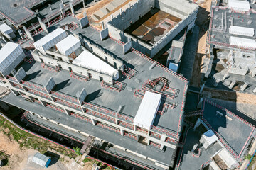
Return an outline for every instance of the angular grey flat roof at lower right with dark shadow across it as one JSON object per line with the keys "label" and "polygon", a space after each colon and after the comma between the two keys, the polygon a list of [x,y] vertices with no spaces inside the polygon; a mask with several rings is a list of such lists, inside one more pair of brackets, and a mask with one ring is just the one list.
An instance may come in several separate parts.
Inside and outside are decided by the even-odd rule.
{"label": "angular grey flat roof at lower right with dark shadow across it", "polygon": [[[216,111],[223,113],[223,116],[216,114]],[[207,99],[203,105],[203,118],[235,159],[240,158],[250,138],[255,135],[254,125]]]}

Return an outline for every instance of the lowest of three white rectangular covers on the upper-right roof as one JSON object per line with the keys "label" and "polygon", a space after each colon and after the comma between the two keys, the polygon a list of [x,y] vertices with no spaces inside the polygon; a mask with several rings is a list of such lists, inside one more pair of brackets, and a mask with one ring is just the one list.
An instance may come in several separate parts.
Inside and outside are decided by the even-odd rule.
{"label": "lowest of three white rectangular covers on the upper-right roof", "polygon": [[256,48],[256,40],[231,36],[230,45],[238,45],[239,47]]}

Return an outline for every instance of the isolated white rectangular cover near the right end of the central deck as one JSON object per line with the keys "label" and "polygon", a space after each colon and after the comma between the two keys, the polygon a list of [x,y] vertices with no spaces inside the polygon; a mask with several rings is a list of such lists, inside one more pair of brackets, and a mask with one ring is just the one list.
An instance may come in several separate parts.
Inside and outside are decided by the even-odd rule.
{"label": "isolated white rectangular cover near the right end of the central deck", "polygon": [[142,99],[142,103],[140,104],[134,118],[134,125],[150,130],[151,125],[154,122],[154,118],[156,117],[156,113],[159,109],[160,103],[161,94],[155,94],[146,91]]}

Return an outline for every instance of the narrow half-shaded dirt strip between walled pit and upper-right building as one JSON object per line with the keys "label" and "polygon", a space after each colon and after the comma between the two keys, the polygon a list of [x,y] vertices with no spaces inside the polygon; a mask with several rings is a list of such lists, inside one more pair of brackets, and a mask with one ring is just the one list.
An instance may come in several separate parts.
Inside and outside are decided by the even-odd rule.
{"label": "narrow half-shaded dirt strip between walled pit and upper-right building", "polygon": [[198,49],[193,66],[193,74],[190,85],[200,86],[201,82],[201,69],[203,68],[203,59],[206,57],[206,38],[208,30],[208,18],[210,14],[210,5],[212,0],[206,0],[204,3],[198,4],[198,16],[196,24],[200,26]]}

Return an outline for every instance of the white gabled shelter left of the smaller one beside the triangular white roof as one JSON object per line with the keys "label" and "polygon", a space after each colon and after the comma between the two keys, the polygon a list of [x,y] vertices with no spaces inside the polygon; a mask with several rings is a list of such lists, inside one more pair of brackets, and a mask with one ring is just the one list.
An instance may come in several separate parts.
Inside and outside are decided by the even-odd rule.
{"label": "white gabled shelter left of the smaller one beside the triangular white roof", "polygon": [[62,28],[57,28],[53,32],[36,41],[34,43],[34,46],[37,50],[45,53],[46,50],[49,50],[51,47],[53,47],[55,44],[57,44],[66,37],[67,33],[65,33],[65,30],[63,30]]}

